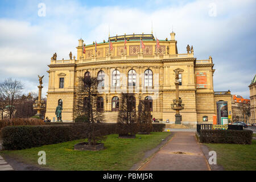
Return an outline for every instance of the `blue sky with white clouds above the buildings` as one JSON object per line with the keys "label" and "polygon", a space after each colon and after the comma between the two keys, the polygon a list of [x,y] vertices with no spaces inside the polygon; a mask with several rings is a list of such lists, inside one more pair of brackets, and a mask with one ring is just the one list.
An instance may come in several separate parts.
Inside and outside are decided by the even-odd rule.
{"label": "blue sky with white clouds above the buildings", "polygon": [[[46,16],[39,16],[39,3]],[[179,53],[192,45],[197,60],[213,57],[214,90],[249,97],[255,66],[256,1],[0,1],[0,81],[13,77],[37,92],[37,75],[47,64],[76,54],[80,37],[86,44],[110,35],[153,32],[170,39],[172,26]],[[48,77],[44,77],[45,95]]]}

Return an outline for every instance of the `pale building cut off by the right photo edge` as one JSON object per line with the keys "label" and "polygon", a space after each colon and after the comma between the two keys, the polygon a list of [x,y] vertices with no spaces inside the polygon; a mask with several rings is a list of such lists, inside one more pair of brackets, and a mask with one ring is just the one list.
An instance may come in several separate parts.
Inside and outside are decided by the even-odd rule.
{"label": "pale building cut off by the right photo edge", "polygon": [[256,75],[254,76],[251,84],[249,85],[250,88],[250,103],[251,103],[251,115],[250,115],[250,122],[256,123]]}

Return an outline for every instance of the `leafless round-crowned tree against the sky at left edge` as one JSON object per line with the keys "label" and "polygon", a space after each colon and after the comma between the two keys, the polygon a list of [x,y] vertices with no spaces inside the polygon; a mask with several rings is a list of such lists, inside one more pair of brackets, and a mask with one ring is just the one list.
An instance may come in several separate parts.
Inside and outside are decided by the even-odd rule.
{"label": "leafless round-crowned tree against the sky at left edge", "polygon": [[14,114],[14,105],[16,104],[17,98],[19,98],[21,90],[23,89],[22,82],[7,78],[4,82],[0,83],[0,97],[6,100],[6,110],[11,119]]}

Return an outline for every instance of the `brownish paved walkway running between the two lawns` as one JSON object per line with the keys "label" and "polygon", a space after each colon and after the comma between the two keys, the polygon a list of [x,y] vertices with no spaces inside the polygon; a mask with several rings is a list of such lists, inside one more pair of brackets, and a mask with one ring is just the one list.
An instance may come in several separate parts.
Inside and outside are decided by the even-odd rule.
{"label": "brownish paved walkway running between the two lawns", "polygon": [[209,165],[195,132],[175,132],[174,137],[144,164],[140,171],[208,171]]}

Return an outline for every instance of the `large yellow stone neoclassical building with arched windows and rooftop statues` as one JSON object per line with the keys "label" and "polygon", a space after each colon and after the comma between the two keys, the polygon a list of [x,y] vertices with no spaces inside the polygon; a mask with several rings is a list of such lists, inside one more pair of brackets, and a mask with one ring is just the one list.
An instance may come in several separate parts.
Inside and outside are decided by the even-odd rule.
{"label": "large yellow stone neoclassical building with arched windows and rooftop statues", "polygon": [[179,94],[185,104],[180,112],[184,124],[212,123],[218,101],[225,101],[228,113],[232,113],[230,92],[214,93],[212,57],[197,60],[189,46],[187,53],[178,53],[175,33],[170,35],[171,39],[159,40],[158,46],[152,34],[109,37],[108,42],[104,40],[96,43],[97,46],[95,43],[85,46],[80,39],[77,57],[70,54],[69,60],[56,60],[53,55],[48,65],[46,117],[53,119],[61,102],[63,121],[73,121],[78,78],[91,76],[101,80],[98,102],[106,121],[117,121],[121,93],[133,92],[136,107],[139,100],[149,100],[152,118],[174,122],[171,104],[175,99],[174,69],[177,68],[184,70],[179,75]]}

